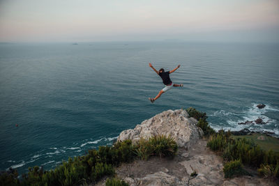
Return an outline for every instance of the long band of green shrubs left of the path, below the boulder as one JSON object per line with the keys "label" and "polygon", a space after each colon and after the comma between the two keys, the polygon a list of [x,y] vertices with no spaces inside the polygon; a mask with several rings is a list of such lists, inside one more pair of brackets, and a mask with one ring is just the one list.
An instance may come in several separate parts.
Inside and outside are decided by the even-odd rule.
{"label": "long band of green shrubs left of the path, below the boulder", "polygon": [[[103,176],[114,176],[114,167],[122,162],[132,162],[140,157],[144,160],[150,155],[158,157],[174,157],[178,146],[174,139],[163,135],[141,139],[133,145],[131,140],[119,141],[114,146],[100,146],[98,150],[89,150],[84,156],[69,158],[54,170],[44,171],[42,167],[29,168],[22,179],[17,178],[13,170],[0,174],[0,185],[86,185],[96,183]],[[107,185],[126,185],[112,179]]]}

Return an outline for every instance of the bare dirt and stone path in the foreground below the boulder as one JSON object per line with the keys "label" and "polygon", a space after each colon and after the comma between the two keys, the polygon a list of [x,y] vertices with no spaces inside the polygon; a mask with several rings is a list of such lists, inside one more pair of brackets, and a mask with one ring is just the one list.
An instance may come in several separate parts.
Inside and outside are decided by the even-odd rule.
{"label": "bare dirt and stone path in the foreground below the boulder", "polygon": [[[197,176],[190,176],[196,171]],[[276,185],[271,180],[243,176],[225,179],[222,157],[206,148],[206,140],[199,139],[187,150],[179,148],[173,160],[151,157],[149,160],[136,160],[121,164],[116,169],[116,177],[129,185]],[[98,185],[105,185],[102,180]]]}

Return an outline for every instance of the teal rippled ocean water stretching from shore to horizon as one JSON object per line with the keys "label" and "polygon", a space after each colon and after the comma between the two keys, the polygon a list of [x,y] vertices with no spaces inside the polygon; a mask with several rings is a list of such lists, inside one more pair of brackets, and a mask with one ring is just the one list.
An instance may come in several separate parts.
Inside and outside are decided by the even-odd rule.
{"label": "teal rippled ocean water stretching from shore to horizon", "polygon": [[[149,62],[165,70],[180,64],[170,77],[184,87],[151,104],[164,86]],[[53,169],[167,109],[195,107],[216,130],[279,137],[278,71],[277,44],[1,44],[0,170]],[[258,117],[269,123],[237,124]]]}

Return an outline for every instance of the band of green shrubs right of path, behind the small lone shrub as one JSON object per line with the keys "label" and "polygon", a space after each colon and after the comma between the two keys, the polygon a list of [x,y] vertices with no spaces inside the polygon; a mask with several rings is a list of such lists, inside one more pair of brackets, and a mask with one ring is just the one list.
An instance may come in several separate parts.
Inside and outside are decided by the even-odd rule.
{"label": "band of green shrubs right of path, behind the small lone shrub", "polygon": [[263,176],[279,178],[279,153],[263,150],[251,139],[235,139],[230,132],[220,130],[210,137],[207,146],[222,153],[225,161],[239,160],[243,164],[255,167]]}

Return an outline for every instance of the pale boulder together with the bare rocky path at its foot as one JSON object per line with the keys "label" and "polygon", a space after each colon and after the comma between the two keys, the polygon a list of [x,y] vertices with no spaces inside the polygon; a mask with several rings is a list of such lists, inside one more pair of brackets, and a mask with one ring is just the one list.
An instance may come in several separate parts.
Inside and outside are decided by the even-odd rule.
{"label": "pale boulder together with the bare rocky path at its foot", "polygon": [[[179,145],[179,153],[173,160],[153,157],[147,161],[136,160],[121,164],[116,176],[129,185],[275,185],[268,180],[251,176],[225,179],[222,157],[206,147],[203,131],[197,120],[190,118],[185,110],[163,111],[143,121],[134,129],[124,130],[118,141],[165,134],[173,137]],[[105,185],[105,183],[100,183]]]}

